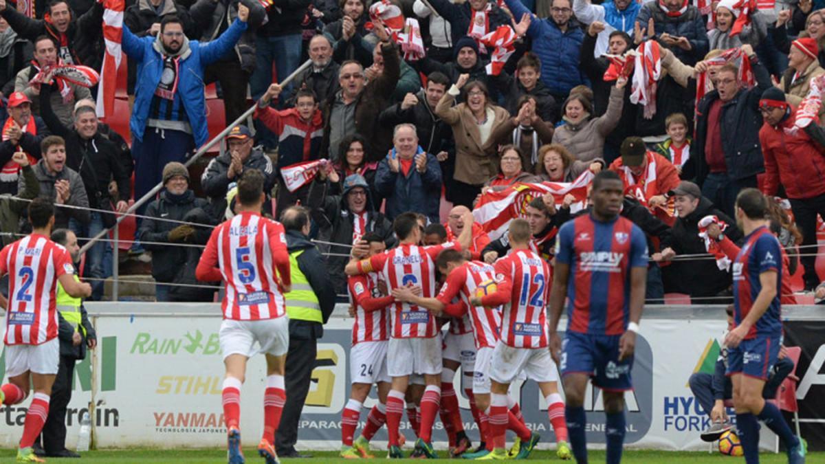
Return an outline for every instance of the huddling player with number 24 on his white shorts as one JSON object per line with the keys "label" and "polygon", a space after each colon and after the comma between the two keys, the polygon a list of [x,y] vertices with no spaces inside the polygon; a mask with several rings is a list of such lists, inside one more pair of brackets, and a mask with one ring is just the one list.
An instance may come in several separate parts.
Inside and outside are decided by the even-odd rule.
{"label": "huddling player with number 24 on his white shorts", "polygon": [[[369,244],[365,258],[384,253],[384,239],[375,232],[368,232],[361,240]],[[387,375],[387,340],[389,340],[389,310],[395,302],[392,295],[384,295],[379,276],[375,272],[351,276],[347,279],[350,302],[355,312],[352,324],[352,348],[350,350],[350,400],[341,417],[341,457],[371,458],[370,439],[387,420],[387,392],[390,378]],[[386,291],[386,290],[384,290]],[[370,394],[372,384],[378,385],[378,404],[367,416],[366,427],[353,442],[361,417],[361,406]]]}

